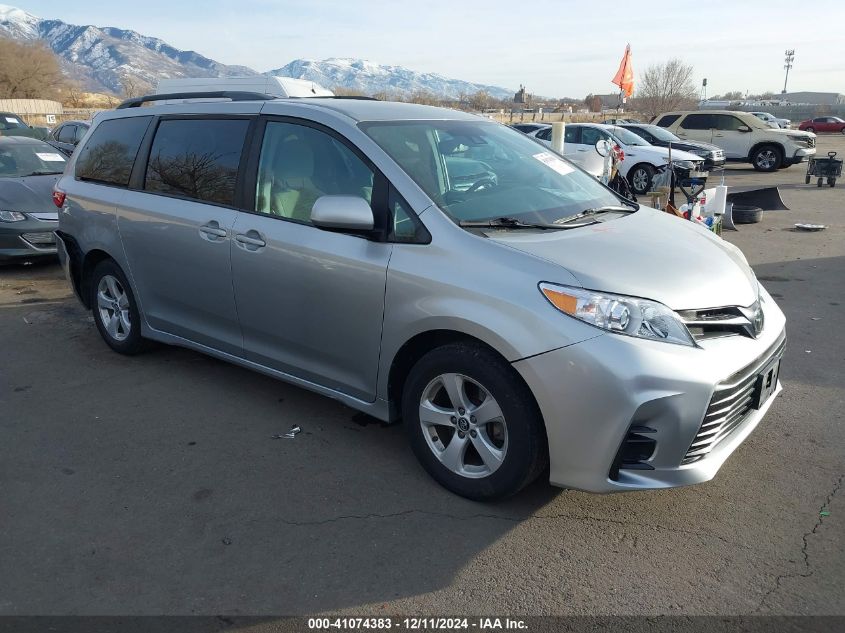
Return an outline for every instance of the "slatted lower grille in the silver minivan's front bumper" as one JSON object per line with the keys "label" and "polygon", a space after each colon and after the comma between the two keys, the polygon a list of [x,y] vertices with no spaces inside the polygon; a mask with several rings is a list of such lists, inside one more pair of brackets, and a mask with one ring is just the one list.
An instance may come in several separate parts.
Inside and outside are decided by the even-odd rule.
{"label": "slatted lower grille in the silver minivan's front bumper", "polygon": [[701,427],[681,464],[702,459],[742,424],[754,406],[757,374],[772,359],[781,357],[785,347],[783,337],[763,356],[716,386]]}

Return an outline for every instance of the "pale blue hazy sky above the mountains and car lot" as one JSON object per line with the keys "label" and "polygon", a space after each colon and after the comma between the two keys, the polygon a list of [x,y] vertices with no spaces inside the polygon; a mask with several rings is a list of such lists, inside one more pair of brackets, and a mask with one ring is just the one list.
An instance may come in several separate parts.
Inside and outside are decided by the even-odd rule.
{"label": "pale blue hazy sky above the mountains and car lot", "polygon": [[[116,26],[227,64],[264,71],[304,57],[382,64],[583,97],[614,87],[625,44],[635,78],[680,57],[708,94],[779,92],[783,52],[794,48],[789,90],[845,93],[845,5],[814,0],[4,0],[43,18]],[[201,7],[201,8],[200,8]],[[524,9],[520,9],[524,7]]]}

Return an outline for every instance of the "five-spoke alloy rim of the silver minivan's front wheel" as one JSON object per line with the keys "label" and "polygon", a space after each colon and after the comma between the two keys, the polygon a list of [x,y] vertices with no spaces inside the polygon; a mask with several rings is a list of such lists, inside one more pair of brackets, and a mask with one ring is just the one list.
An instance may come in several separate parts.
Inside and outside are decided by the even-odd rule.
{"label": "five-spoke alloy rim of the silver minivan's front wheel", "polygon": [[496,399],[462,374],[441,374],[423,390],[420,426],[428,447],[453,473],[478,479],[498,470],[508,450],[505,416]]}

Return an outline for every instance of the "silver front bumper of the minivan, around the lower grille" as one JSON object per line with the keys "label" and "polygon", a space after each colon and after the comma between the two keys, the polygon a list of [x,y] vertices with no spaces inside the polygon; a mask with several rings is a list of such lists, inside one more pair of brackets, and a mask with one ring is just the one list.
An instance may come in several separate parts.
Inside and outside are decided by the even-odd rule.
{"label": "silver front bumper of the minivan, around the lower grille", "polygon": [[[765,297],[758,339],[730,336],[699,348],[605,334],[514,363],[543,413],[552,484],[590,492],[670,488],[712,479],[759,424],[781,391],[696,461],[687,452],[716,387],[749,367],[764,366],[785,334],[783,313]],[[632,430],[650,429],[653,452],[637,468],[618,456]]]}

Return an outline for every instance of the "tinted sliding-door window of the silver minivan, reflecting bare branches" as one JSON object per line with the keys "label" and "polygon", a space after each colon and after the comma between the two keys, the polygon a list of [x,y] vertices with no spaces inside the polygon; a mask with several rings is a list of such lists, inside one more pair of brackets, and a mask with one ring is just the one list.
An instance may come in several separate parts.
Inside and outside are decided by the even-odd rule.
{"label": "tinted sliding-door window of the silver minivan, reflecting bare branches", "polygon": [[233,206],[246,119],[166,119],[150,149],[144,189]]}

